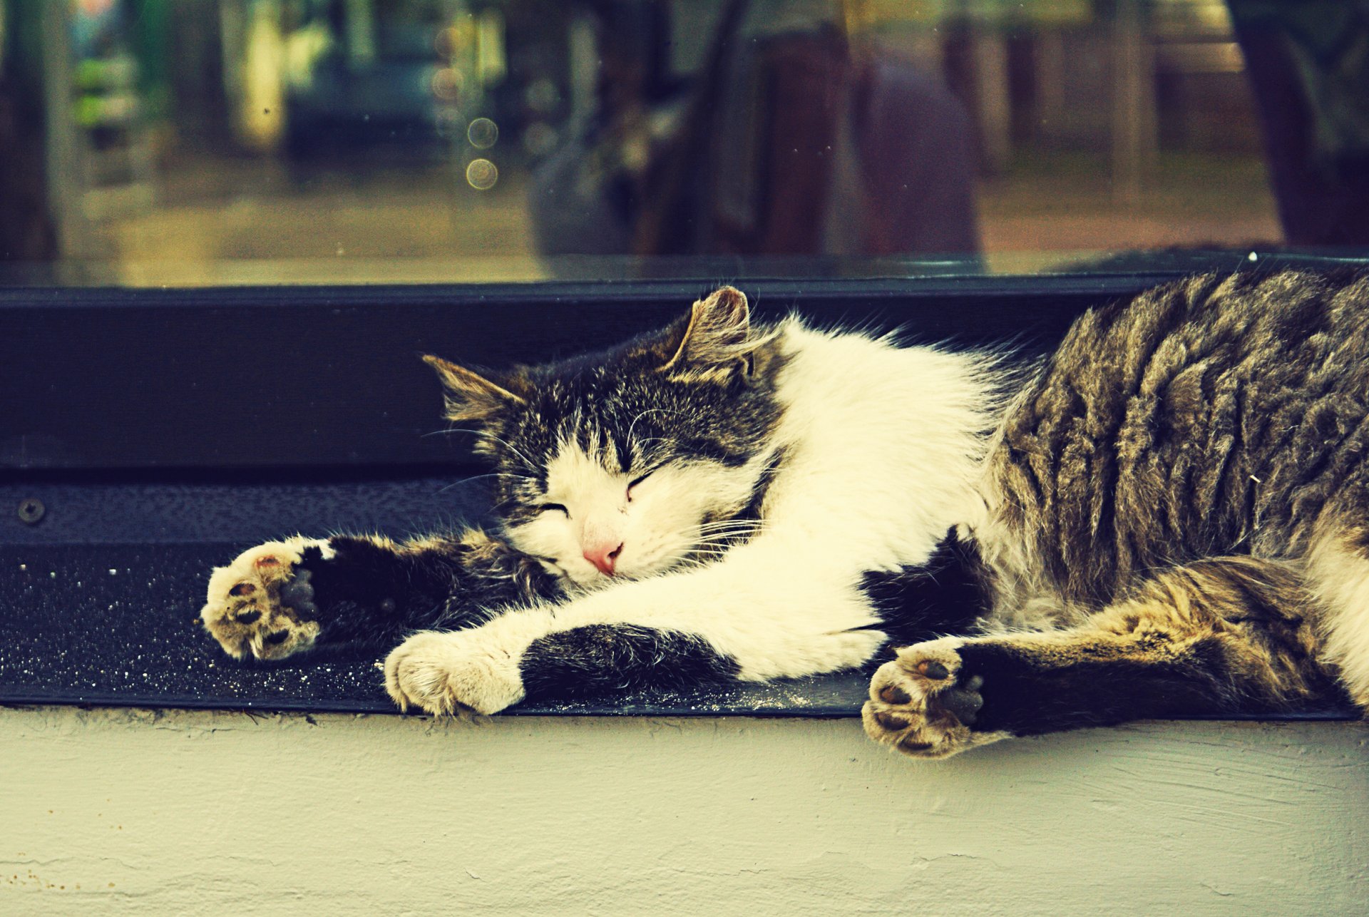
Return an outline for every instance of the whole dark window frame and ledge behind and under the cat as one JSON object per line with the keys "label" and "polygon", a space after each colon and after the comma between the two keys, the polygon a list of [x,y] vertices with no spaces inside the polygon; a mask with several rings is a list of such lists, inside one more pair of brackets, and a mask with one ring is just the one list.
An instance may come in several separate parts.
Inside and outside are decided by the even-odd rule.
{"label": "whole dark window frame and ledge behind and under the cat", "polygon": [[[1157,279],[756,286],[772,315],[802,305],[924,339],[1049,342],[1080,309]],[[0,327],[19,330],[0,341],[0,391],[22,393],[0,412],[0,703],[393,712],[379,657],[226,657],[197,621],[209,569],[282,534],[405,535],[479,516],[481,486],[450,487],[478,474],[463,443],[423,437],[441,423],[416,354],[502,364],[606,344],[674,316],[700,292],[683,286],[0,290]],[[30,500],[36,523],[18,512]],[[509,713],[849,717],[865,682]]]}

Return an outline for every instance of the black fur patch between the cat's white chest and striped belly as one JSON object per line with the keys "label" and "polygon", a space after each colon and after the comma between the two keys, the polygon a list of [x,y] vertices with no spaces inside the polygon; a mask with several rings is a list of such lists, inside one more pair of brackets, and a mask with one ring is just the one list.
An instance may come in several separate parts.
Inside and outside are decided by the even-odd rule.
{"label": "black fur patch between the cat's white chest and striped belly", "polygon": [[990,610],[987,576],[975,541],[961,541],[951,530],[925,564],[867,572],[861,589],[894,647],[971,632]]}

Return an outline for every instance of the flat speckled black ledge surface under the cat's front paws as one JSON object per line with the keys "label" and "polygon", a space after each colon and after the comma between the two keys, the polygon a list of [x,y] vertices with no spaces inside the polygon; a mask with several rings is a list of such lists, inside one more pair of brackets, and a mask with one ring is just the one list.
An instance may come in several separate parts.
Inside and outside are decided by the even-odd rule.
{"label": "flat speckled black ledge surface under the cat's front paws", "polygon": [[[237,662],[200,630],[209,568],[244,546],[0,545],[0,703],[394,713],[379,656]],[[509,713],[854,716],[864,684],[846,673]]]}

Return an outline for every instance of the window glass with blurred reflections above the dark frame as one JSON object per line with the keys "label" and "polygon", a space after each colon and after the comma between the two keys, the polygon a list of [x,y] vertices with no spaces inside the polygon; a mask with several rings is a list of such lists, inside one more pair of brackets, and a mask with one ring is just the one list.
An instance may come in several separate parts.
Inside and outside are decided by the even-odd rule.
{"label": "window glass with blurred reflections above the dark frame", "polygon": [[0,0],[10,282],[1369,242],[1361,0]]}

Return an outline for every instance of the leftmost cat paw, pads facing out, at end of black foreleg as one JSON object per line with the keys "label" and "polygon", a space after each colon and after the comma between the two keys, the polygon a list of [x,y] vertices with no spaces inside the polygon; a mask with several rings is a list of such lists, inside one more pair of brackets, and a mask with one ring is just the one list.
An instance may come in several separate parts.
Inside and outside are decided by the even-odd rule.
{"label": "leftmost cat paw, pads facing out, at end of black foreleg", "polygon": [[318,609],[309,572],[298,568],[308,547],[331,553],[327,542],[312,538],[267,542],[209,575],[200,621],[229,656],[283,660],[314,646]]}

